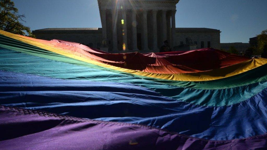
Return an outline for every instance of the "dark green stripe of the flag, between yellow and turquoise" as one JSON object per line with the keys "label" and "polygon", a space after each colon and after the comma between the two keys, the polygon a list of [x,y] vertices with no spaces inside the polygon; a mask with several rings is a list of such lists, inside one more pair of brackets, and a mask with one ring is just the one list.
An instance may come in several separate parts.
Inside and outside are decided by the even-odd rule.
{"label": "dark green stripe of the flag, between yellow and turquoise", "polygon": [[[144,77],[144,76],[137,76],[137,75],[133,75],[133,74],[125,73],[125,72],[120,72],[117,70],[111,70],[111,69],[103,68],[103,67],[100,67],[97,65],[92,65],[92,64],[89,64],[89,63],[86,63],[83,61],[78,61],[78,60],[75,60],[73,58],[65,57],[65,56],[62,56],[60,54],[56,54],[56,53],[53,53],[53,52],[50,52],[50,51],[47,51],[47,50],[44,50],[41,48],[37,48],[35,46],[26,44],[24,42],[20,42],[18,40],[14,40],[14,39],[9,38],[9,37],[5,37],[3,35],[0,35],[0,46],[3,48],[31,54],[31,55],[38,56],[38,57],[48,58],[51,60],[67,62],[70,64],[79,65],[79,66],[85,66],[85,67],[89,67],[89,68],[107,70],[109,72],[123,74],[123,75],[127,76],[125,80],[129,80],[128,77],[131,77],[131,80],[144,79],[146,81],[156,82],[156,84],[165,84],[165,85],[168,84],[168,85],[175,85],[175,86],[184,87],[184,88],[225,89],[225,88],[244,86],[244,85],[257,83],[257,82],[261,82],[261,81],[267,81],[267,75],[266,75],[266,71],[265,71],[265,70],[267,70],[267,64],[260,66],[260,67],[257,67],[255,69],[249,70],[247,72],[244,72],[244,73],[232,76],[232,77],[219,79],[219,80],[196,81],[196,82],[193,82],[193,81],[172,81],[172,80],[161,80],[161,79],[149,78],[149,77]],[[61,77],[58,77],[58,78],[61,78]],[[81,74],[81,76],[78,76],[78,77],[71,77],[70,76],[69,78],[76,79],[76,78],[85,78],[85,77],[83,77]],[[95,79],[95,80],[98,80],[98,79]],[[108,79],[105,79],[105,80],[106,81],[112,81],[112,80],[118,81],[117,78],[112,78],[112,77],[109,77]],[[119,79],[119,80],[125,82],[124,78]],[[143,82],[143,80],[142,80],[142,82],[140,82],[139,84],[146,86],[147,82]]]}

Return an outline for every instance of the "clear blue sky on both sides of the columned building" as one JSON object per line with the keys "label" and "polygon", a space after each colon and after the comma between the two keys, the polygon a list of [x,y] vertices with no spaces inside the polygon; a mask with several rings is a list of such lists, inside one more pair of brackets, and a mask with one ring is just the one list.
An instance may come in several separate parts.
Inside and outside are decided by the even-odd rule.
{"label": "clear blue sky on both sides of the columned building", "polygon": [[[101,27],[97,0],[13,0],[32,30]],[[180,0],[176,27],[219,29],[221,43],[248,42],[267,29],[267,0]]]}

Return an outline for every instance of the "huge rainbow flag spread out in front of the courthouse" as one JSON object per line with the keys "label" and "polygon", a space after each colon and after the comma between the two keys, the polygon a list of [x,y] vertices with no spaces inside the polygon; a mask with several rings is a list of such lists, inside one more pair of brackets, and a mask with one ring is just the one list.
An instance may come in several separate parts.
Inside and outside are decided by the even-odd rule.
{"label": "huge rainbow flag spread out in front of the courthouse", "polygon": [[1,149],[267,149],[267,59],[112,54],[0,30]]}

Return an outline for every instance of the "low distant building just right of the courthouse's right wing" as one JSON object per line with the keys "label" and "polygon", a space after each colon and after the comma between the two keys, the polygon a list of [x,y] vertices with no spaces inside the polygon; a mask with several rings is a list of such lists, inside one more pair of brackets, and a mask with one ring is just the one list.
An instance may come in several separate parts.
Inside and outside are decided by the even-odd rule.
{"label": "low distant building just right of the courthouse's right wing", "polygon": [[237,49],[238,53],[245,54],[246,50],[250,47],[249,43],[221,43],[221,49],[225,51],[229,51],[230,47],[233,46],[234,48]]}

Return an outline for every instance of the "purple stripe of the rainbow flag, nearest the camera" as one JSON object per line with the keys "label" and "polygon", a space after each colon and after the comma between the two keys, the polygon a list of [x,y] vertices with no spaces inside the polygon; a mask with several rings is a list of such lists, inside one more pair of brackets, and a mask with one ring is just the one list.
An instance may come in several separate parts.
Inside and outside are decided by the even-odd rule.
{"label": "purple stripe of the rainbow flag, nearest the camera", "polygon": [[267,149],[267,135],[208,141],[144,125],[0,106],[0,149]]}

